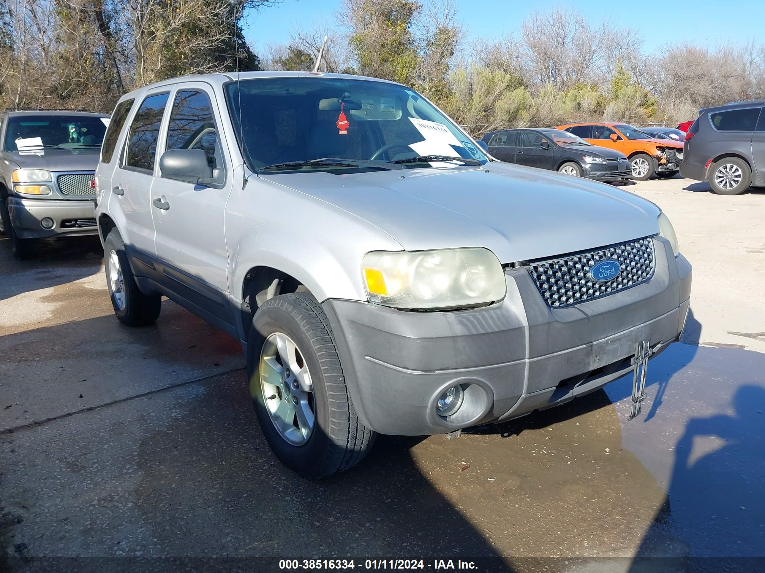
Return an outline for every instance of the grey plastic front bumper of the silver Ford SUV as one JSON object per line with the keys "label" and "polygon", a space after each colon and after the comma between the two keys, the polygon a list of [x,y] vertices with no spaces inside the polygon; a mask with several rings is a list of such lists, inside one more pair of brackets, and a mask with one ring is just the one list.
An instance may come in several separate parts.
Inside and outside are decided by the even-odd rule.
{"label": "grey plastic front bumper of the silver Ford SUV", "polygon": [[[658,354],[675,342],[690,304],[691,265],[654,241],[651,280],[563,309],[545,303],[525,268],[509,269],[506,298],[483,309],[402,312],[328,299],[360,419],[383,434],[451,432],[556,406],[629,373],[636,343],[650,338]],[[444,419],[435,403],[454,384],[464,403]]]}

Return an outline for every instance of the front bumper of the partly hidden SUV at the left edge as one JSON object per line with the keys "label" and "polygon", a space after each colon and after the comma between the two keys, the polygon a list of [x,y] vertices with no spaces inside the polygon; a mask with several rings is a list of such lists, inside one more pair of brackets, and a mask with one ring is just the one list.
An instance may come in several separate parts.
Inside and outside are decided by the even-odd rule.
{"label": "front bumper of the partly hidden SUV at the left edge", "polygon": [[[93,200],[8,197],[8,214],[20,238],[96,235],[95,206]],[[53,219],[53,228],[46,229],[41,225],[46,217]]]}

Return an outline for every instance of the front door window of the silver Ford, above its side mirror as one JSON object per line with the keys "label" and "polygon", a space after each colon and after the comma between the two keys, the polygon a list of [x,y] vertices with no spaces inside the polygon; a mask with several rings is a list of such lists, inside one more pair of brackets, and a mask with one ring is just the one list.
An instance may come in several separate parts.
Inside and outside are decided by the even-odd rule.
{"label": "front door window of the silver Ford, above its side mirror", "polygon": [[210,167],[223,167],[210,98],[205,92],[177,92],[168,126],[168,149],[201,149]]}

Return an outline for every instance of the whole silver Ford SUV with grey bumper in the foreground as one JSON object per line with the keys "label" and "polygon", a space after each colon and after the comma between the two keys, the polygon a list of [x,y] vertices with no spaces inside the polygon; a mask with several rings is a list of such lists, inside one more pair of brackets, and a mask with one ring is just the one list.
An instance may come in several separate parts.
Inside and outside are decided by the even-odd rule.
{"label": "whole silver Ford SUV with grey bumper in the foreground", "polygon": [[154,322],[164,295],[241,341],[265,438],[308,478],[376,432],[565,403],[678,339],[691,266],[658,207],[482,150],[379,79],[131,92],[96,170],[116,315]]}

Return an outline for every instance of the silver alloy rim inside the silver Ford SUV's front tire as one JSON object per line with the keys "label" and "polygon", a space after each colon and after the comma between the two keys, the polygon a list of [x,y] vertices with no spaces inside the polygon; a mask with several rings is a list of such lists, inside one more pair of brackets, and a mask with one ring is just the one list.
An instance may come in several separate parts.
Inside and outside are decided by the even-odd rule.
{"label": "silver alloy rim inside the silver Ford SUV's front tire", "polygon": [[260,388],[271,421],[292,445],[308,442],[314,431],[314,386],[303,354],[282,332],[265,339],[260,351]]}

